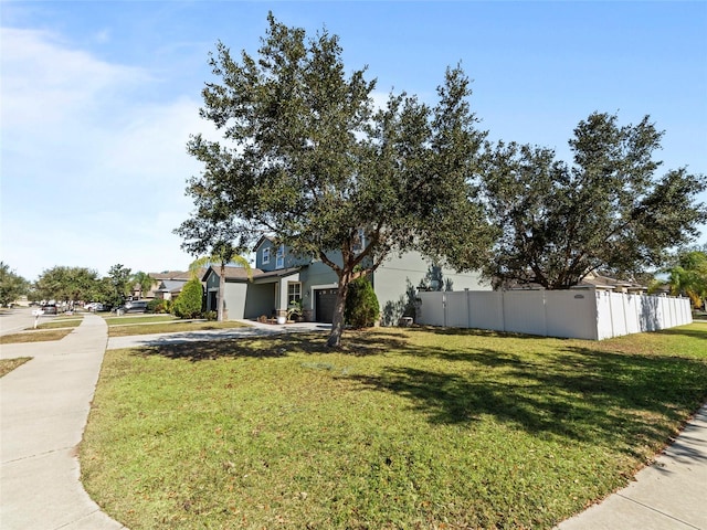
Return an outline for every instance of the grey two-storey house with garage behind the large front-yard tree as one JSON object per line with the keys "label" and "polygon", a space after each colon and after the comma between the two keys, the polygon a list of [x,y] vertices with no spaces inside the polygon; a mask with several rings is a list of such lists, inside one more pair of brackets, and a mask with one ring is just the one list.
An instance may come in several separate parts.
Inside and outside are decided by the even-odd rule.
{"label": "grey two-storey house with garage behind the large front-yard tree", "polygon": [[[306,320],[331,321],[338,278],[328,265],[319,259],[297,256],[289,247],[277,245],[266,236],[257,242],[255,255],[252,279],[244,268],[225,268],[226,319],[284,316],[289,305],[299,300]],[[220,268],[211,266],[202,276],[208,310],[218,308]],[[456,274],[434,267],[414,252],[386,261],[372,274],[371,283],[381,307],[383,325],[397,324],[407,312],[414,315],[418,288],[490,290],[490,284],[482,282],[478,274]]]}

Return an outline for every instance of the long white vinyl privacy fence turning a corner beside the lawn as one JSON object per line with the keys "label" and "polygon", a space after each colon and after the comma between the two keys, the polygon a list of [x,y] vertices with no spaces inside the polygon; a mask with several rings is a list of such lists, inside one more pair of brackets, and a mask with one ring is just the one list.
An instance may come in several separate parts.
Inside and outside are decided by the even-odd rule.
{"label": "long white vinyl privacy fence turning a corner beside the lawn", "polygon": [[688,298],[602,290],[419,293],[418,324],[601,340],[692,324]]}

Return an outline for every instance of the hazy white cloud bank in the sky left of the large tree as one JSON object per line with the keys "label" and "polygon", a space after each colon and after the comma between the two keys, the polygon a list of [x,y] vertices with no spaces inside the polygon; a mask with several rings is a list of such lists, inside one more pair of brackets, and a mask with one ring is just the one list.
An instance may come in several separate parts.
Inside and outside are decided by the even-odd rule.
{"label": "hazy white cloud bank in the sky left of the large tree", "polygon": [[2,29],[2,47],[3,262],[30,279],[54,265],[184,268],[171,231],[200,171],[186,152],[207,128],[199,102],[145,99],[149,72],[45,32]]}

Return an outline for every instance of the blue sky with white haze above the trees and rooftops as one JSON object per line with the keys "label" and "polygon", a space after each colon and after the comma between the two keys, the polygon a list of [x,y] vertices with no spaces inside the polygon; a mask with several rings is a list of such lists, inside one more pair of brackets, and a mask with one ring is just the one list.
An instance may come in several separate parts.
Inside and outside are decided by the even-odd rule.
{"label": "blue sky with white haze above the trees and rooftops", "polygon": [[569,161],[592,112],[650,115],[664,170],[707,173],[706,1],[0,0],[0,259],[30,280],[59,265],[186,269],[172,231],[202,170],[187,141],[214,135],[199,117],[209,53],[256,55],[270,10],[339,35],[347,71],[367,66],[381,97],[434,103],[461,64],[494,141]]}

